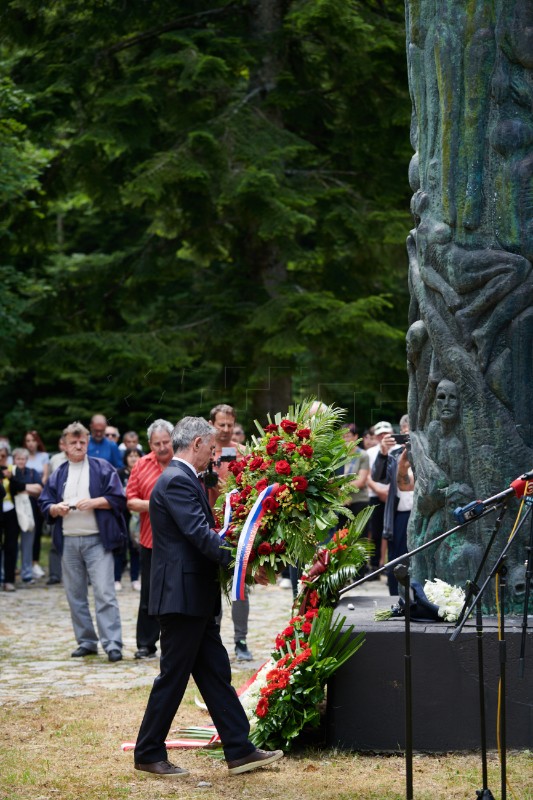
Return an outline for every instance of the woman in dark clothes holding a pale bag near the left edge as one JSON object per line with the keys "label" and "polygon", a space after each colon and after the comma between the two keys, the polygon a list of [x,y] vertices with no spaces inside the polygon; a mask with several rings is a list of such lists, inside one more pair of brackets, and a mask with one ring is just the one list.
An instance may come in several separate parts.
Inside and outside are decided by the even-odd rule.
{"label": "woman in dark clothes holding a pale bag near the left edge", "polygon": [[42,492],[41,477],[37,470],[27,466],[30,454],[25,447],[13,450],[11,495],[15,504],[20,531],[20,577],[23,583],[34,583],[33,539],[35,535],[35,504]]}

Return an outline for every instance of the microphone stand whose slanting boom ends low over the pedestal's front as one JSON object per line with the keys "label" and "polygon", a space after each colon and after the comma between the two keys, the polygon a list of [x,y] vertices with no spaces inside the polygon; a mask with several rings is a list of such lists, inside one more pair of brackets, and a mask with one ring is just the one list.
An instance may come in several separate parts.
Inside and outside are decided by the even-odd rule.
{"label": "microphone stand whose slanting boom ends low over the pedestal's front", "polygon": [[[526,501],[527,502],[527,501]],[[479,604],[481,604],[481,599],[483,594],[485,593],[487,586],[491,582],[491,580],[496,576],[499,575],[499,585],[500,585],[500,596],[499,596],[499,603],[500,603],[500,629],[499,629],[499,662],[500,662],[500,684],[499,684],[499,704],[498,704],[498,727],[500,731],[500,741],[499,741],[499,752],[500,752],[500,767],[501,767],[501,800],[506,800],[507,798],[507,709],[506,709],[506,678],[507,678],[507,642],[505,640],[505,589],[507,585],[506,575],[507,575],[507,566],[505,564],[507,553],[513,542],[515,541],[516,537],[518,536],[519,531],[521,530],[523,524],[525,523],[527,517],[531,513],[533,505],[530,502],[527,502],[526,513],[518,523],[515,528],[514,533],[512,536],[509,537],[507,540],[505,547],[503,548],[502,552],[498,556],[496,563],[494,564],[493,568],[491,569],[489,575],[485,579],[481,589],[477,591],[476,596],[470,603],[470,606],[465,611],[461,622],[457,625],[455,631],[450,637],[450,641],[454,642],[459,634],[461,633],[468,617],[472,613],[473,609]],[[477,587],[476,587],[477,589]],[[527,606],[525,607],[526,613],[526,624],[527,624]],[[480,689],[481,692],[481,689]],[[480,694],[481,697],[481,694]],[[484,703],[484,700],[483,700]],[[484,776],[484,787],[486,786],[485,776]],[[478,797],[481,798],[491,798],[492,795],[488,792],[488,789],[483,789],[480,792],[477,792]]]}

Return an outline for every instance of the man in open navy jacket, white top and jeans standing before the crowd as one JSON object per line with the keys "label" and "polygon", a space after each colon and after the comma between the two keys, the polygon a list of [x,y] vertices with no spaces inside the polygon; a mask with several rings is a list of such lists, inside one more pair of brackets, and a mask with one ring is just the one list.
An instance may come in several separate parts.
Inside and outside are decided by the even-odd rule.
{"label": "man in open navy jacket, white top and jeans standing before the crowd", "polygon": [[[95,655],[98,638],[111,662],[122,659],[122,629],[115,594],[113,550],[126,541],[124,489],[115,468],[87,455],[89,431],[73,422],[63,431],[67,461],[52,473],[39,504],[53,525],[63,584],[78,648],[72,656]],[[94,593],[96,634],[89,609]]]}

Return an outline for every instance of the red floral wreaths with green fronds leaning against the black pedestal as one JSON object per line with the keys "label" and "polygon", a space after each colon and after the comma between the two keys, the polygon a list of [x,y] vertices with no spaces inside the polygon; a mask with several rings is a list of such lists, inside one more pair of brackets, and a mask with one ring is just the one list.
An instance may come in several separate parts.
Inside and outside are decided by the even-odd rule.
{"label": "red floral wreaths with green fronds leaning against the black pedestal", "polygon": [[363,531],[371,511],[358,514],[348,528],[336,531],[313,557],[301,577],[298,613],[275,640],[270,660],[240,694],[250,719],[252,741],[259,747],[289,749],[302,728],[320,723],[326,682],[363,643],[342,632],[344,617],[333,620],[340,590],[366,563]]}

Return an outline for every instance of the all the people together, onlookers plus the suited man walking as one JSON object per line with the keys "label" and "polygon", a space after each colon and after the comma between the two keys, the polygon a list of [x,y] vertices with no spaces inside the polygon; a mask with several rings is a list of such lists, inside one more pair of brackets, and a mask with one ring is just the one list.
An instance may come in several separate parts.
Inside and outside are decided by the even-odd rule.
{"label": "all the people together, onlookers plus the suited man walking", "polygon": [[[347,506],[354,514],[375,506],[368,523],[374,544],[370,569],[406,551],[413,495],[408,429],[406,416],[400,420],[400,435],[387,421],[362,437],[354,423],[344,426],[344,438],[352,445],[344,467],[346,475],[353,475]],[[161,650],[135,768],[160,777],[187,774],[168,761],[165,738],[191,675],[221,736],[230,774],[268,766],[283,752],[259,750],[250,742],[220,638],[218,565],[227,564],[230,556],[215,530],[214,507],[225,489],[229,463],[244,456],[244,431],[233,408],[220,404],[211,410],[209,422],[185,417],[174,426],[158,419],[146,436],[149,452],[144,454],[134,431],[120,442],[119,430],[95,414],[88,429],[81,422],[67,425],[52,458],[35,430],[13,452],[0,439],[2,588],[16,591],[19,559],[23,583],[46,577],[39,560],[43,525],[48,525],[47,583],[64,586],[77,643],[71,656],[94,656],[100,644],[109,662],[116,663],[123,658],[117,592],[129,564],[132,589],[139,591],[135,658],[155,657],[158,644]],[[259,570],[255,579],[266,583],[266,574]],[[388,581],[395,593],[393,574]],[[252,659],[248,616],[247,595],[232,604],[239,660]]]}

